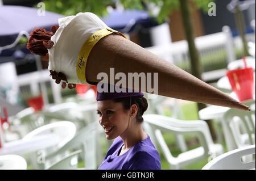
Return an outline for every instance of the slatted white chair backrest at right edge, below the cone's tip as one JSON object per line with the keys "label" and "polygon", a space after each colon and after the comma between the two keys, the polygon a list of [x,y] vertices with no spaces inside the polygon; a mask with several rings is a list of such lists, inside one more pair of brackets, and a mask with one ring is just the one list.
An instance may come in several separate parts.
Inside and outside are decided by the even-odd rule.
{"label": "slatted white chair backrest at right edge, below the cone's tip", "polygon": [[[224,113],[224,122],[227,125],[227,130],[233,136],[230,137],[232,140],[227,141],[234,141],[237,148],[255,144],[255,100],[249,100],[244,104],[250,106],[251,111],[232,108]],[[242,140],[243,134],[247,134],[247,141]]]}

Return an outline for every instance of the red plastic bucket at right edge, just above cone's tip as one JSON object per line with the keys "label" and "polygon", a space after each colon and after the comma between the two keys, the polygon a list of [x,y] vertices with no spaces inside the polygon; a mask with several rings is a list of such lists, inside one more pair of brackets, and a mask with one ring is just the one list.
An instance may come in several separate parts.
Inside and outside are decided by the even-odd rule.
{"label": "red plastic bucket at right edge, just above cone's tip", "polygon": [[226,75],[240,102],[253,99],[253,68],[230,70]]}

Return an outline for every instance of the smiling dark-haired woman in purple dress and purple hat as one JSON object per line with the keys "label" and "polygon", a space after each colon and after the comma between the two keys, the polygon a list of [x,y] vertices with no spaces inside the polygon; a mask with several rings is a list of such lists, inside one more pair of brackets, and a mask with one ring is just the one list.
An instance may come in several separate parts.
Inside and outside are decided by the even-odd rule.
{"label": "smiling dark-haired woman in purple dress and purple hat", "polygon": [[143,93],[97,92],[97,104],[106,138],[115,139],[98,169],[161,169],[159,153],[141,125],[147,110]]}

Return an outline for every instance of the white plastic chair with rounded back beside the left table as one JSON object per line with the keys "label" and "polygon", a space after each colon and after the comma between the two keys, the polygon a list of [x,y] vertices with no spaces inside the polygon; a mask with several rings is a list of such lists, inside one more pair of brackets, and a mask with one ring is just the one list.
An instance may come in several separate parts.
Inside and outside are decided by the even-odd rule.
{"label": "white plastic chair with rounded back beside the left table", "polygon": [[[59,144],[53,146],[53,148],[49,148],[44,150],[46,154],[50,154],[51,152],[60,149],[63,147],[67,142],[72,140],[72,138],[76,134],[76,126],[70,121],[57,121],[55,123],[50,123],[47,125],[43,125],[40,128],[36,128],[34,131],[28,133],[26,136],[23,137],[23,140],[28,140],[32,137],[39,136],[42,134],[56,134],[59,137]],[[44,169],[43,163],[38,163],[37,158],[38,154],[30,154],[32,165],[35,169]]]}

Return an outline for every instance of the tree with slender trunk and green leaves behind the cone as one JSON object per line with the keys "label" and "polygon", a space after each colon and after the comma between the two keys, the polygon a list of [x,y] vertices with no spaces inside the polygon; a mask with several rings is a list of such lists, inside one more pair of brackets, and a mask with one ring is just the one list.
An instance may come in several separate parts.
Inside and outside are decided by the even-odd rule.
{"label": "tree with slender trunk and green leaves behind the cone", "polygon": [[[73,15],[81,11],[90,11],[102,16],[107,13],[106,6],[114,5],[112,0],[86,0],[86,1],[73,1],[73,0],[57,0],[57,1],[44,1],[46,3],[46,9],[49,11],[59,12],[65,15]],[[159,6],[160,11],[158,14],[158,21],[163,22],[173,10],[180,10],[183,26],[185,30],[185,36],[188,42],[189,56],[191,60],[191,72],[192,75],[201,79],[201,63],[199,53],[195,45],[195,35],[193,32],[193,24],[191,19],[191,3],[195,4],[197,8],[208,10],[208,4],[212,0],[119,0],[119,3],[125,7],[125,9],[147,9],[148,3],[151,5]],[[199,110],[205,108],[205,104],[197,104]],[[209,124],[209,122],[208,122]],[[209,124],[213,137],[215,137],[212,125]]]}

